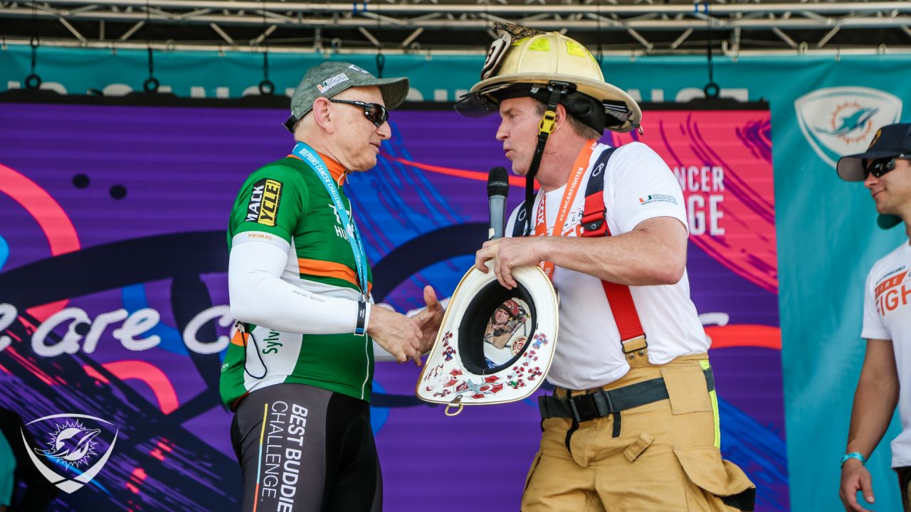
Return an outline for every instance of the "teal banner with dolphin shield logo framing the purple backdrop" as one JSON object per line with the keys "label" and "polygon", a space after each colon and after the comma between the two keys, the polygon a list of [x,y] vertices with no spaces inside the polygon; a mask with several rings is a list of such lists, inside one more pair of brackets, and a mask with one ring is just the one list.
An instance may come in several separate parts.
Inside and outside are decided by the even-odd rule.
{"label": "teal banner with dolphin shield logo framing the purple backdrop", "polygon": [[[65,94],[142,90],[144,50],[40,47],[35,72],[43,87]],[[269,78],[290,94],[322,53],[271,54]],[[375,56],[333,56],[378,72]],[[162,90],[184,97],[258,94],[261,54],[155,53]],[[385,77],[412,80],[413,101],[452,101],[476,81],[482,56],[384,56]],[[906,240],[879,230],[868,192],[837,178],[840,155],[863,151],[875,129],[899,121],[911,82],[902,80],[911,56],[741,56],[715,59],[722,97],[771,104],[774,210],[778,239],[786,436],[793,510],[836,510],[851,404],[865,342],[860,338],[865,275],[877,259]],[[607,80],[642,101],[688,101],[708,81],[704,57],[605,56]],[[0,50],[0,90],[20,88],[31,73],[30,48]],[[53,120],[48,120],[53,122]],[[276,121],[279,122],[279,121]],[[468,126],[468,125],[466,125]],[[643,128],[660,130],[650,124]],[[747,135],[744,134],[744,137]],[[676,165],[669,162],[670,166]],[[744,375],[744,379],[751,378]],[[889,468],[893,422],[867,466],[875,510],[898,510]]]}

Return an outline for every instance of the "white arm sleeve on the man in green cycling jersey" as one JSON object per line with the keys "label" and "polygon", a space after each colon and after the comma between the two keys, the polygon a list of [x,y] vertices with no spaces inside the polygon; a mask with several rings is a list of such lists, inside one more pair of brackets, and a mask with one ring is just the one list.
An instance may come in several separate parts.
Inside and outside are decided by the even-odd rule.
{"label": "white arm sleeve on the man in green cycling jersey", "polygon": [[[308,292],[281,280],[289,251],[291,244],[269,233],[244,231],[234,237],[228,262],[234,318],[281,333],[353,333],[357,301]],[[370,308],[366,304],[364,329],[370,321]]]}

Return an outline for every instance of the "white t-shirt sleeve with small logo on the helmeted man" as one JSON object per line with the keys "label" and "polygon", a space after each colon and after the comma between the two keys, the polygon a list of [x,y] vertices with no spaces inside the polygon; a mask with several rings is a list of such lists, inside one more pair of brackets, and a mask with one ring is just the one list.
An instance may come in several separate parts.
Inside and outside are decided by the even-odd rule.
{"label": "white t-shirt sleeve with small logo on the helmeted man", "polygon": [[654,150],[640,142],[620,146],[610,156],[609,169],[604,202],[619,233],[655,217],[672,217],[687,227],[680,183]]}

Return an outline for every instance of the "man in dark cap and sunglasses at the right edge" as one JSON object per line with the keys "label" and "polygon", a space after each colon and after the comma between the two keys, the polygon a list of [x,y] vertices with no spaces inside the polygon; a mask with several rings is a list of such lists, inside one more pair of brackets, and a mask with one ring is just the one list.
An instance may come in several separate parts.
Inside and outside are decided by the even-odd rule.
{"label": "man in dark cap and sunglasses at the right edge", "polygon": [[[880,128],[864,153],[838,160],[838,176],[864,181],[881,216],[905,221],[911,234],[911,124]],[[881,217],[882,219],[882,217]],[[876,261],[864,288],[866,355],[851,412],[848,444],[842,457],[839,496],[845,510],[865,510],[857,502],[861,491],[874,502],[870,472],[864,464],[885,435],[896,404],[902,433],[892,441],[892,467],[898,473],[902,503],[911,511],[911,245],[902,242],[895,251]]]}

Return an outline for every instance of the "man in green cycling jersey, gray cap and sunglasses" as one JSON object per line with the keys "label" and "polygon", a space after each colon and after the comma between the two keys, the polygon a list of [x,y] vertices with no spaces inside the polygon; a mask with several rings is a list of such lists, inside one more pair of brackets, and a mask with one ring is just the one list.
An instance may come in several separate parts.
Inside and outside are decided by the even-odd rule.
{"label": "man in green cycling jersey, gray cap and sunglasses", "polygon": [[407,78],[344,62],[312,67],[285,123],[296,144],[253,172],[234,202],[228,278],[238,322],[220,393],[234,412],[244,511],[382,509],[374,349],[420,364],[443,309],[430,287],[413,318],[373,306],[344,185],[376,165],[388,109],[407,92]]}

